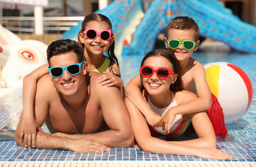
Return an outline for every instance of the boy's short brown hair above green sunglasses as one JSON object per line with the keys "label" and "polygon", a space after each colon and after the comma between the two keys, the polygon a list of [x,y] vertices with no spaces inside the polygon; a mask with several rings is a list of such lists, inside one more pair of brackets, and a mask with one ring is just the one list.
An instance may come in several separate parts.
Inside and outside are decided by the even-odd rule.
{"label": "boy's short brown hair above green sunglasses", "polygon": [[199,40],[200,28],[195,22],[195,19],[187,16],[174,17],[168,22],[166,27],[166,37],[168,37],[168,31],[172,29],[177,30],[194,30],[195,31],[195,41]]}

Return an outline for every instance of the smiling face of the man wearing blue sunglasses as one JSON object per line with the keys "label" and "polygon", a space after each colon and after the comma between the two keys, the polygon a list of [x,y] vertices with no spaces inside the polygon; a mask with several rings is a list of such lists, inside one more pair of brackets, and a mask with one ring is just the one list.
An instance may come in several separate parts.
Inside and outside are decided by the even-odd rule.
{"label": "smiling face of the man wearing blue sunglasses", "polygon": [[[79,64],[77,55],[74,52],[65,53],[50,58],[51,67],[66,67],[72,64]],[[80,67],[80,73],[70,75],[66,69],[63,75],[57,78],[52,76],[52,83],[63,96],[74,96],[84,85],[84,75],[86,74],[86,62]]]}

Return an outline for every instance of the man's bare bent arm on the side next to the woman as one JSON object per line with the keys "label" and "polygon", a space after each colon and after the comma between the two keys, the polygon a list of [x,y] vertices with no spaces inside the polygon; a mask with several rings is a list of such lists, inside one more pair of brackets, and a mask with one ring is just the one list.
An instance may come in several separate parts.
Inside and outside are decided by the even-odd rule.
{"label": "man's bare bent arm on the side next to the woman", "polygon": [[92,77],[90,85],[90,94],[94,94],[94,100],[98,101],[99,108],[103,111],[104,121],[110,130],[95,134],[68,135],[57,133],[56,135],[73,139],[81,139],[90,136],[109,147],[133,146],[134,137],[130,125],[130,116],[124,105],[119,89],[117,87],[102,86],[94,77]]}

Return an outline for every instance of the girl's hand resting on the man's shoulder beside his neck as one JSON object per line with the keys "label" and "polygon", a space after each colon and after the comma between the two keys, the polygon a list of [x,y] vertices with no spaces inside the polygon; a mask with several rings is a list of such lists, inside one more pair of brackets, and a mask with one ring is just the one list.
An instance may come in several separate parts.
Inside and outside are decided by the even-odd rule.
{"label": "girl's hand resting on the man's shoulder beside his neck", "polygon": [[99,77],[99,84],[103,86],[106,85],[107,87],[117,86],[122,89],[124,87],[123,80],[110,72],[104,72],[103,75]]}

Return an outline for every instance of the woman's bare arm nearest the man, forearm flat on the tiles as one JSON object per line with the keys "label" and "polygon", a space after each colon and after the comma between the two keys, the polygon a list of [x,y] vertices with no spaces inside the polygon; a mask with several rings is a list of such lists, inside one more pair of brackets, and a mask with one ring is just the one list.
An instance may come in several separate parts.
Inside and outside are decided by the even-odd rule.
{"label": "woman's bare arm nearest the man, forearm flat on the tiles", "polygon": [[197,148],[152,137],[143,115],[128,98],[124,100],[132,123],[135,139],[144,152],[156,154],[195,155],[203,158],[230,159],[233,156],[216,148]]}

